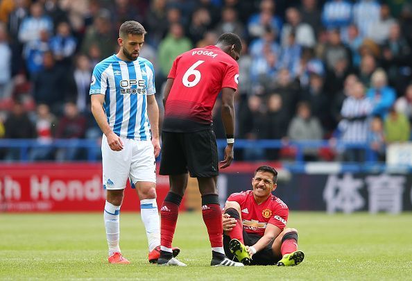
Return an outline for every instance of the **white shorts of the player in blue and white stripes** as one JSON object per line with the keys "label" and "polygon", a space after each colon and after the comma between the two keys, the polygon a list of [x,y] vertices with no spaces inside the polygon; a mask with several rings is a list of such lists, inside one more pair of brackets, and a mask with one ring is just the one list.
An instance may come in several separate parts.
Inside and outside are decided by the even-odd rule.
{"label": "white shorts of the player in blue and white stripes", "polygon": [[151,141],[121,138],[123,150],[112,151],[103,135],[101,155],[105,189],[124,189],[130,179],[136,182],[156,182],[156,162]]}

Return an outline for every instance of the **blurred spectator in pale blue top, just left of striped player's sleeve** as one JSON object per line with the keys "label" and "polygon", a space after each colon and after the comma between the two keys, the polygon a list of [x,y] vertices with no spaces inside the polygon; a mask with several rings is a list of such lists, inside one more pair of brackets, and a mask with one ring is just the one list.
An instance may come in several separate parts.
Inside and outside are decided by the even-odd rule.
{"label": "blurred spectator in pale blue top, just left of striped player's sleeve", "polygon": [[76,68],[74,69],[74,83],[76,84],[76,105],[80,112],[90,111],[90,80],[92,79],[92,67],[90,60],[85,55],[76,58]]}

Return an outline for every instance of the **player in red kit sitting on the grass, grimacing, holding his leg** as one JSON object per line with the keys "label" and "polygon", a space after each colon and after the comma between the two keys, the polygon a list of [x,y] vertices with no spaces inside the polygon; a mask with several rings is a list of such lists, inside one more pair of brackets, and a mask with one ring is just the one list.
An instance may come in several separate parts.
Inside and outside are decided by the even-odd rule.
{"label": "player in red kit sitting on the grass, grimacing, holding his leg", "polygon": [[223,214],[223,244],[228,257],[243,264],[294,266],[303,261],[298,231],[286,228],[289,209],[273,196],[277,171],[261,166],[252,190],[231,194]]}

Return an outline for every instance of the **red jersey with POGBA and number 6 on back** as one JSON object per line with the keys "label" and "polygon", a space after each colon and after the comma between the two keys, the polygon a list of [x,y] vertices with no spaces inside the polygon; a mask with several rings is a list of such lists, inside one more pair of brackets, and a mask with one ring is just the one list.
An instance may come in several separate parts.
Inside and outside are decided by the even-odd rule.
{"label": "red jersey with POGBA and number 6 on back", "polygon": [[164,109],[163,130],[194,132],[212,128],[212,108],[223,87],[237,90],[239,66],[217,46],[182,53],[168,78],[173,86]]}

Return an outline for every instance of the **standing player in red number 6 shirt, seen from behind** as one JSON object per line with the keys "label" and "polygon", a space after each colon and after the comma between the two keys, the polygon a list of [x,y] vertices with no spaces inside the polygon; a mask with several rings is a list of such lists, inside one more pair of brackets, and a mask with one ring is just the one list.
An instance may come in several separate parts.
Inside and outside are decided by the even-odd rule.
{"label": "standing player in red number 6 shirt, seen from behind", "polygon": [[[171,244],[178,210],[187,187],[188,171],[198,179],[202,214],[210,244],[212,266],[243,266],[225,257],[221,207],[216,181],[218,169],[233,159],[234,92],[237,90],[241,52],[238,35],[225,33],[214,46],[192,49],[178,56],[164,90],[162,160],[160,174],[169,175],[170,191],[161,214],[161,251],[158,265],[186,266],[172,256]],[[216,137],[212,130],[212,108],[221,92],[222,119],[228,145],[218,165]]]}

